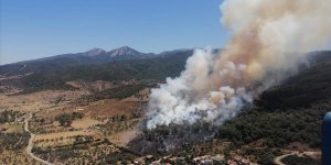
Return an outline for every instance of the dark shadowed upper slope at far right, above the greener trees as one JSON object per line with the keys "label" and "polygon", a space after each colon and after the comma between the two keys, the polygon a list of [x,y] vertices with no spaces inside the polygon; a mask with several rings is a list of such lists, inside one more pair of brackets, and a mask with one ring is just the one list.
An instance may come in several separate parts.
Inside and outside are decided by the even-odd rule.
{"label": "dark shadowed upper slope at far right, above the greener trees", "polygon": [[267,109],[307,108],[331,98],[331,52],[314,53],[311,66],[265,91],[257,101]]}

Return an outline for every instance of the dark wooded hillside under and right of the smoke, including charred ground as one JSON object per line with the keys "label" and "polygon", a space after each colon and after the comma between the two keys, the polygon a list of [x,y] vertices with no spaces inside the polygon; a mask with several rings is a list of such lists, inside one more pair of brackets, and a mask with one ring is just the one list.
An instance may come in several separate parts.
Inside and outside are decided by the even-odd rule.
{"label": "dark wooded hillside under and right of the smoke, including charred ground", "polygon": [[143,133],[130,147],[143,154],[204,155],[217,153],[215,145],[232,148],[263,142],[259,147],[287,147],[301,142],[319,148],[321,119],[331,109],[331,52],[309,54],[309,64],[280,85],[265,90],[223,125],[197,121],[171,123]]}

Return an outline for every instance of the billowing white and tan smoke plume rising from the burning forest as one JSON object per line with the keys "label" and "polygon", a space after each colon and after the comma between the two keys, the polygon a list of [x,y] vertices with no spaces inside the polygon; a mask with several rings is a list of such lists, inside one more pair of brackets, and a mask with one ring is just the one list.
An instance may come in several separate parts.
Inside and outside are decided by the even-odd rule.
{"label": "billowing white and tan smoke plume rising from the burning forest", "polygon": [[195,50],[180,77],[151,90],[148,129],[222,124],[331,41],[330,0],[225,0],[221,12],[233,37],[221,53]]}

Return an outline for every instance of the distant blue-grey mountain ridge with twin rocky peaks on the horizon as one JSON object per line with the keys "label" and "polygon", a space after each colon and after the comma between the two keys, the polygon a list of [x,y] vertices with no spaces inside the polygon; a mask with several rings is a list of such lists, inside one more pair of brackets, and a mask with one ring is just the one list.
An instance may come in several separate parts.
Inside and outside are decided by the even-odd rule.
{"label": "distant blue-grey mountain ridge with twin rocky peaks on the horizon", "polygon": [[10,76],[18,74],[35,73],[39,70],[60,70],[66,67],[79,65],[104,65],[118,61],[164,57],[175,54],[192,55],[193,48],[167,51],[159,54],[141,53],[129,46],[118,47],[109,52],[106,52],[102,48],[92,48],[84,53],[62,54],[51,57],[1,65],[0,75]]}

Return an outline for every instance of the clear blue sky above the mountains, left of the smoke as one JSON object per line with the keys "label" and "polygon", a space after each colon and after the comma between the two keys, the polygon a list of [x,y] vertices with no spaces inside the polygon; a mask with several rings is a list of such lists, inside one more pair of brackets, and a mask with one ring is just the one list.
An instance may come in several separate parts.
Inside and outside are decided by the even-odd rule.
{"label": "clear blue sky above the mountains, left of the smoke", "polygon": [[222,0],[0,0],[0,64],[93,47],[222,47]]}

